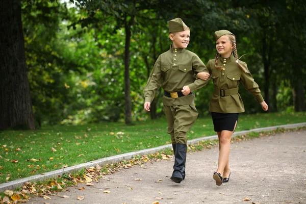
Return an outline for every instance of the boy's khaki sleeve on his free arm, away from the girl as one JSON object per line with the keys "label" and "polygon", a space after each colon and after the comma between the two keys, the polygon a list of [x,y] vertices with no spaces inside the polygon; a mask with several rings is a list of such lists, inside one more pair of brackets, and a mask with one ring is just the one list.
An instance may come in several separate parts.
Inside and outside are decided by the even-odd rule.
{"label": "boy's khaki sleeve on his free arm, away from the girl", "polygon": [[154,67],[150,73],[147,84],[143,90],[145,102],[152,103],[152,100],[154,99],[156,94],[156,90],[161,85],[161,81],[162,81],[161,56],[159,56],[154,64]]}

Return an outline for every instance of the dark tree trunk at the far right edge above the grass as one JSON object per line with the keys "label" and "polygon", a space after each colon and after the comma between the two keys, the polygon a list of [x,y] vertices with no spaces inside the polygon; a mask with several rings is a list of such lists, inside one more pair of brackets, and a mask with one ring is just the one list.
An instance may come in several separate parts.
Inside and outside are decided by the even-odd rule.
{"label": "dark tree trunk at the far right edge above the grass", "polygon": [[301,79],[297,80],[293,88],[293,105],[294,111],[305,111],[305,91]]}

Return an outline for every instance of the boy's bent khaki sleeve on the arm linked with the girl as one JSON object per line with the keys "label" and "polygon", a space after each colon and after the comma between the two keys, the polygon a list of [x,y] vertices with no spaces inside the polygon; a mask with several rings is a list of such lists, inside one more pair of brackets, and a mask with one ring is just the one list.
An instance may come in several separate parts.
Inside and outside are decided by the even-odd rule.
{"label": "boy's bent khaki sleeve on the arm linked with the girl", "polygon": [[[192,69],[194,71],[194,75],[196,75],[198,72],[209,72],[205,64],[202,62],[202,60],[197,56],[194,55],[192,57]],[[189,84],[190,91],[198,90],[202,88],[203,86],[207,85],[211,80],[211,77],[207,79],[206,81],[196,79],[193,83]]]}

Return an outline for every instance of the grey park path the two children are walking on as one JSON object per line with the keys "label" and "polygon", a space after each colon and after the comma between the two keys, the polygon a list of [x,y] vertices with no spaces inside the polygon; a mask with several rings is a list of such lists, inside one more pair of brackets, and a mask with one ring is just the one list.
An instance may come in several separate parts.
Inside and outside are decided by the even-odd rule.
{"label": "grey park path the two children are walking on", "polygon": [[[58,196],[49,196],[51,199],[33,197],[28,203],[306,203],[306,131],[231,144],[232,175],[221,186],[212,178],[217,161],[216,146],[187,154],[186,179],[181,184],[170,180],[172,158],[124,169],[93,187],[67,188]],[[85,190],[78,190],[80,187]],[[78,200],[78,196],[85,198]],[[243,201],[246,198],[249,201]]]}

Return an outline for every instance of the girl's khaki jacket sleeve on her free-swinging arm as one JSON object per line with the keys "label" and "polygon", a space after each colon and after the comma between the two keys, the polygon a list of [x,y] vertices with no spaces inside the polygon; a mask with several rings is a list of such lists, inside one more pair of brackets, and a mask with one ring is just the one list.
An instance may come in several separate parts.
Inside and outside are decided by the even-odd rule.
{"label": "girl's khaki jacket sleeve on her free-swinging arm", "polygon": [[[247,69],[247,65],[246,65],[245,62],[241,61],[240,63]],[[254,97],[256,97],[256,99],[259,101],[259,103],[264,101],[264,98],[261,95],[261,91],[259,89],[259,86],[254,81],[254,79],[253,79],[253,77],[250,73],[245,73],[244,71],[242,71],[241,81],[244,84],[245,89],[248,90]]]}

